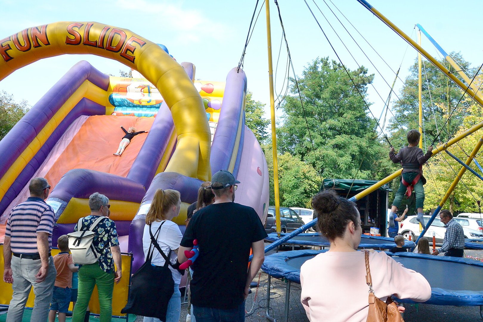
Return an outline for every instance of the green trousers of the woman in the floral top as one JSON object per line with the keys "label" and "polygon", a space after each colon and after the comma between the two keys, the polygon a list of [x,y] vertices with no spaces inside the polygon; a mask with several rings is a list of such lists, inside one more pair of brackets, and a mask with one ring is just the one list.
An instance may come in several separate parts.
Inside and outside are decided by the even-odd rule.
{"label": "green trousers of the woman in the floral top", "polygon": [[78,276],[79,289],[72,322],[84,322],[85,311],[96,285],[99,293],[99,322],[110,322],[113,315],[114,273],[106,273],[100,268],[99,263],[94,263],[81,266]]}

